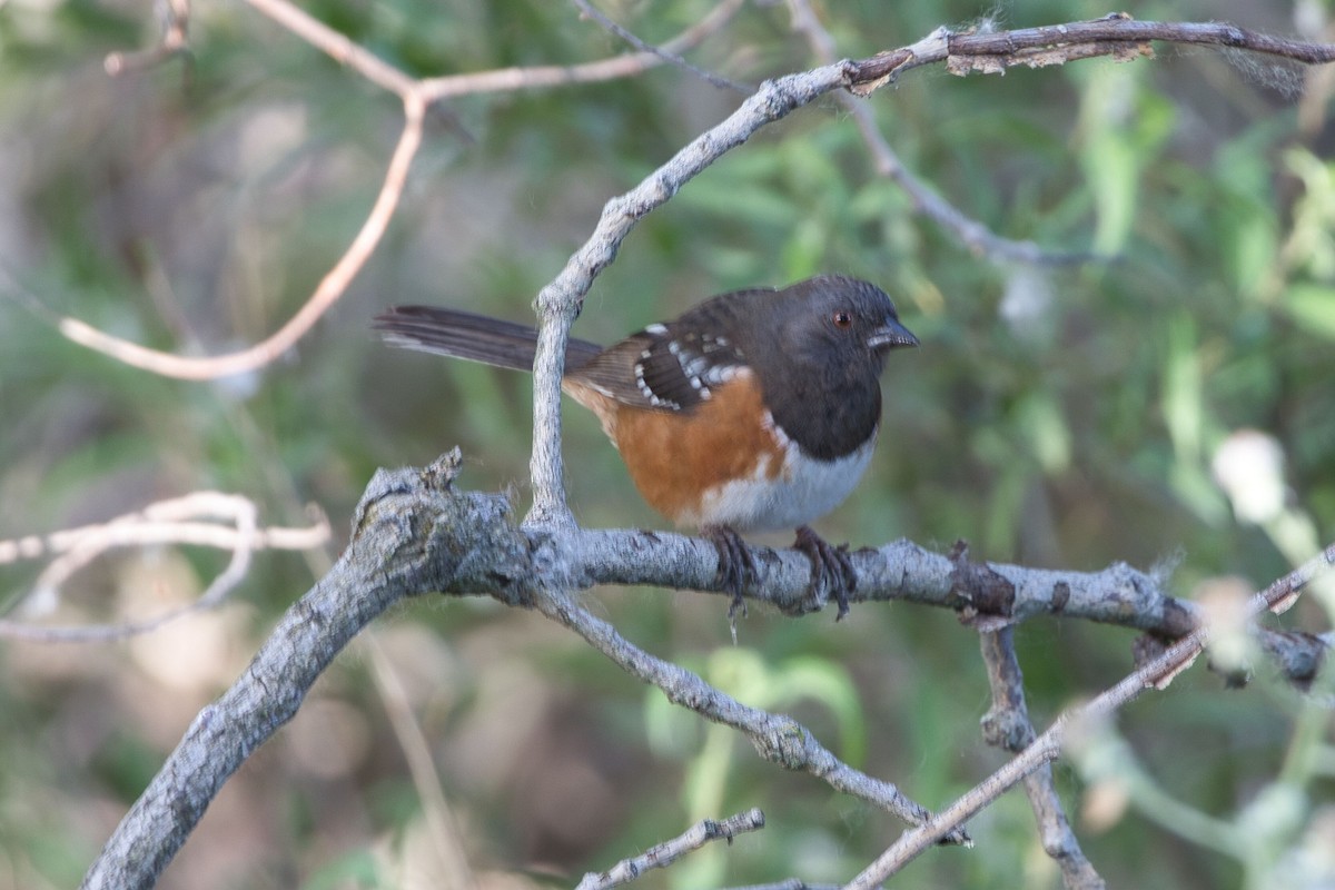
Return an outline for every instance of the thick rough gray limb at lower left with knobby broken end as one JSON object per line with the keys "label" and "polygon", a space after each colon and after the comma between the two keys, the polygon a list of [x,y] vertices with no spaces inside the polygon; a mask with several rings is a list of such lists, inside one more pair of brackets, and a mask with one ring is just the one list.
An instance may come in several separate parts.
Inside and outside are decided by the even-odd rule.
{"label": "thick rough gray limb at lower left with knobby broken end", "polygon": [[[487,570],[497,576],[527,560],[522,539],[503,532],[503,499],[449,492],[455,460],[458,452],[425,472],[382,471],[371,479],[338,563],[288,608],[236,683],[199,713],[83,887],[152,886],[227,778],[296,714],[334,656],[386,608],[411,591],[477,583],[467,566],[475,555],[489,554]],[[489,580],[495,586],[495,576]]]}

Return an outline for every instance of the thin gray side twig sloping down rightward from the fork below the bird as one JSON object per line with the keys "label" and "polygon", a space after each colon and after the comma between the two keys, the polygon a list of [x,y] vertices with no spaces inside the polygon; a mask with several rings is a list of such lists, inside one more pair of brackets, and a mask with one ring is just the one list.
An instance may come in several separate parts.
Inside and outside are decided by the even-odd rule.
{"label": "thin gray side twig sloping down rightward from the fork below the bird", "polygon": [[[661,689],[673,705],[689,707],[706,719],[744,733],[765,759],[789,770],[810,773],[834,790],[874,803],[905,822],[922,825],[930,818],[928,810],[905,797],[893,783],[856,770],[834,757],[810,730],[793,718],[742,705],[706,683],[698,674],[634,646],[611,624],[577,604],[565,588],[547,588],[534,604],[547,618],[583,636],[585,642],[627,674]],[[969,841],[963,829],[941,837],[949,843]]]}

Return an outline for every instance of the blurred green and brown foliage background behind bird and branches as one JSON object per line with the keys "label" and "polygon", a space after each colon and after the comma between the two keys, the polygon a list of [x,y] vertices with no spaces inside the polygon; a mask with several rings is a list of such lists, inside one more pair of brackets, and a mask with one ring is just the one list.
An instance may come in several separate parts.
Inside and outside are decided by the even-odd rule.
{"label": "blurred green and brown foliage background behind bird and branches", "polygon": [[[623,51],[567,3],[303,7],[414,75]],[[601,8],[663,41],[712,4]],[[816,8],[846,56],[940,24],[1109,12],[1055,0]],[[1127,11],[1335,39],[1324,0]],[[83,350],[53,319],[184,354],[262,339],[360,226],[400,109],[239,3],[192,8],[188,67],[105,73],[108,52],[156,32],[148,3],[0,4],[0,539],[218,488],[254,498],[272,526],[304,524],[318,504],[335,540],[260,554],[227,604],[147,636],[0,639],[0,887],[77,883],[198,709],[336,556],[376,467],[458,444],[463,484],[509,490],[522,514],[529,382],[387,350],[370,318],[402,302],[531,318],[607,197],[740,101],[665,67],[443,105],[383,244],[311,335],[259,374],[187,383]],[[780,3],[746,4],[690,57],[750,81],[814,64]],[[868,278],[922,347],[892,356],[874,466],[821,523],[828,538],[965,539],[977,558],[1067,568],[1125,560],[1181,596],[1255,588],[1335,538],[1331,89],[1328,69],[1160,47],[1155,60],[1004,77],[914,71],[868,100],[909,169],[995,232],[1116,258],[1040,267],[975,255],[916,215],[828,99],[645,219],[575,334],[610,342],[734,287]],[[569,411],[566,436],[581,522],[661,527],[590,416]],[[1230,479],[1270,486],[1260,507],[1235,508],[1220,484],[1226,443],[1243,447]],[[117,551],[43,614],[24,602],[40,560],[5,564],[0,602],[32,622],[151,615],[223,564],[194,548]],[[836,624],[752,608],[733,646],[716,596],[595,590],[586,603],[929,806],[1004,759],[979,735],[976,634],[949,612],[864,606]],[[1304,602],[1284,626],[1326,631],[1328,612]],[[1040,726],[1131,666],[1132,634],[1113,627],[1036,620],[1017,642]],[[1227,690],[1200,664],[1059,763],[1085,851],[1115,886],[1332,886],[1327,687],[1302,697],[1255,669],[1251,686]],[[750,806],[768,815],[762,833],[639,883],[838,882],[900,831],[761,762],[537,615],[415,602],[338,659],[160,886],[570,886]],[[1057,886],[1023,795],[971,830],[973,850],[932,851],[892,886]]]}

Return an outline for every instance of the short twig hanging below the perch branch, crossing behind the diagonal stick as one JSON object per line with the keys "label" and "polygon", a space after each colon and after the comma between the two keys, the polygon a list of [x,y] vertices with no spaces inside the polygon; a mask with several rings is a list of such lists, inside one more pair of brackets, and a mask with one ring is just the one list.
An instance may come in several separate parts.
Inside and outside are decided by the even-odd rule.
{"label": "short twig hanging below the perch branch, crossing behind the diagonal stick", "polygon": [[[988,685],[992,689],[992,709],[983,718],[983,735],[988,745],[1019,754],[1033,743],[1037,733],[1029,722],[1029,709],[1024,701],[1024,675],[1015,654],[1015,628],[979,634]],[[1044,851],[1061,869],[1061,882],[1067,890],[1103,890],[1105,882],[1080,850],[1080,842],[1061,806],[1061,798],[1052,781],[1052,765],[1043,763],[1024,778],[1024,791],[1039,822],[1039,837]]]}

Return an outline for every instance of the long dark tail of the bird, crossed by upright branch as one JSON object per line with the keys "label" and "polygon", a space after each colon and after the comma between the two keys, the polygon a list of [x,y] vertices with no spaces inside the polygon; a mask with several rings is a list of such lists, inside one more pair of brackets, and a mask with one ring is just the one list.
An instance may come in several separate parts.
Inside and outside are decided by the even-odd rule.
{"label": "long dark tail of the bird, crossed by upright branch", "polygon": [[[538,348],[538,331],[527,324],[434,306],[395,306],[376,315],[374,327],[390,346],[515,371],[533,371],[533,355]],[[597,343],[570,340],[566,370],[586,364],[599,352],[602,347]]]}

